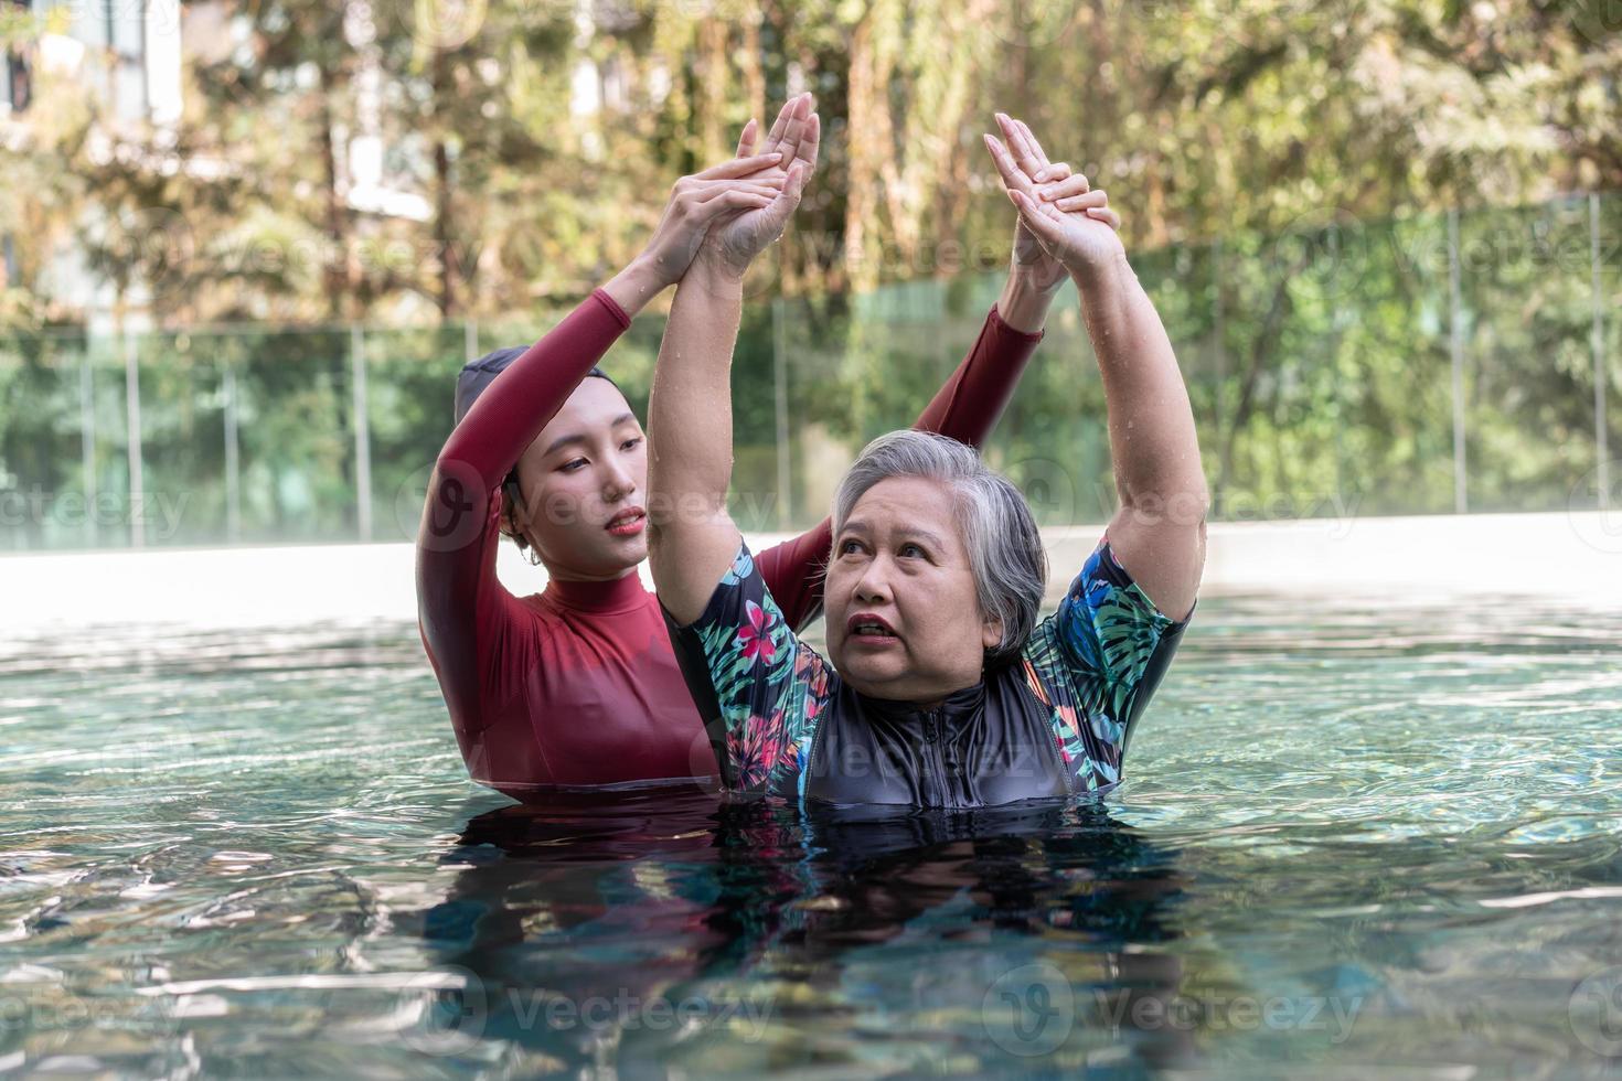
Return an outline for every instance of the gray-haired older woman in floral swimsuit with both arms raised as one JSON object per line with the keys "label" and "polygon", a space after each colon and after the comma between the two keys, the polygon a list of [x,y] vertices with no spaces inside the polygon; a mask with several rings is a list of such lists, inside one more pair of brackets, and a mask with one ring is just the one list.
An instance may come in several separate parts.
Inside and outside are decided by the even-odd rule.
{"label": "gray-haired older woman in floral swimsuit with both arms raised", "polygon": [[740,280],[787,214],[777,201],[712,230],[676,292],[649,405],[649,488],[693,511],[655,522],[649,549],[733,789],[939,807],[1106,791],[1192,616],[1207,494],[1171,344],[1103,193],[1049,164],[1025,125],[998,123],[1007,144],[986,146],[1020,222],[1080,292],[1121,509],[1038,622],[1046,556],[1019,489],[947,438],[882,436],[834,499],[817,655],[725,504]]}

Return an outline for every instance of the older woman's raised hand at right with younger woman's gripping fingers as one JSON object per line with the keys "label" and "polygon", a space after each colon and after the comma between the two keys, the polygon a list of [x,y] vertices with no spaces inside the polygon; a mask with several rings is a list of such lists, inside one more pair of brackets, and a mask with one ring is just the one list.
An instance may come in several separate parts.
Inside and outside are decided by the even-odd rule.
{"label": "older woman's raised hand at right with younger woman's gripping fingers", "polygon": [[1064,162],[1049,162],[1022,120],[998,113],[998,126],[1007,144],[988,135],[986,149],[1019,207],[1015,271],[1051,287],[1059,274],[1085,277],[1126,254],[1118,235],[1121,216],[1109,209],[1109,196],[1092,188],[1087,177],[1071,175]]}

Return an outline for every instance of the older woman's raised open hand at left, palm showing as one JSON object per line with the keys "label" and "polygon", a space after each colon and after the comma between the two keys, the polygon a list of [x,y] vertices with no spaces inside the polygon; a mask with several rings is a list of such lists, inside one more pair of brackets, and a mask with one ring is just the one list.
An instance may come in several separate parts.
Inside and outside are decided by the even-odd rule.
{"label": "older woman's raised open hand at left, palm showing", "polygon": [[[822,122],[813,112],[811,94],[788,99],[782,112],[777,113],[777,122],[762,146],[767,152],[780,154],[779,162],[746,175],[748,180],[780,185],[777,196],[769,204],[746,209],[717,222],[704,237],[696,264],[702,264],[706,271],[722,274],[727,279],[744,276],[754,256],[782,235],[788,217],[800,206],[800,194],[816,169],[821,133]],[[754,160],[754,157],[741,157],[753,149],[753,143],[754,122],[751,120],[738,141],[740,157],[733,160]]]}

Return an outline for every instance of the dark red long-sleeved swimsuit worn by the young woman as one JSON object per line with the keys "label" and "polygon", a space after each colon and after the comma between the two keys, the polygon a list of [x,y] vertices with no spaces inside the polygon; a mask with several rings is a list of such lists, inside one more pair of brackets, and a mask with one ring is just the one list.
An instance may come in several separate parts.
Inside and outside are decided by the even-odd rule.
{"label": "dark red long-sleeved swimsuit worn by the young woman", "polygon": [[[715,773],[659,601],[634,572],[553,579],[530,596],[496,580],[503,480],[629,324],[595,290],[478,395],[428,485],[417,538],[423,648],[469,775],[519,801],[551,786]],[[1040,340],[993,308],[918,428],[978,446]],[[824,520],[757,558],[790,627],[819,613],[830,546]]]}

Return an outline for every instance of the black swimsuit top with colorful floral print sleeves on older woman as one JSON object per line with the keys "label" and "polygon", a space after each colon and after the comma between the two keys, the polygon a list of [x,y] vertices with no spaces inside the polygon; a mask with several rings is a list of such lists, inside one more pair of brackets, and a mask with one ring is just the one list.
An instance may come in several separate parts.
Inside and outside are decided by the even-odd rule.
{"label": "black swimsuit top with colorful floral print sleeves on older woman", "polygon": [[704,614],[665,622],[730,789],[986,807],[1114,788],[1189,619],[1158,611],[1103,538],[1019,656],[933,710],[848,687],[783,622],[743,543]]}

